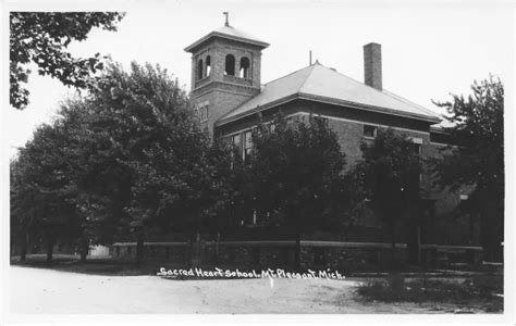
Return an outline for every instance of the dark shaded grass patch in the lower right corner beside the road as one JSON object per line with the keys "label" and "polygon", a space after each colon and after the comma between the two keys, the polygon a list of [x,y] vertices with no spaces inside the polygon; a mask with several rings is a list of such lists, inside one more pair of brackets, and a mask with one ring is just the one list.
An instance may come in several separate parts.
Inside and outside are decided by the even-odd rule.
{"label": "dark shaded grass patch in the lower right corner beside the road", "polygon": [[503,312],[503,275],[484,274],[460,278],[405,278],[392,274],[357,288],[368,301],[453,303],[486,312]]}

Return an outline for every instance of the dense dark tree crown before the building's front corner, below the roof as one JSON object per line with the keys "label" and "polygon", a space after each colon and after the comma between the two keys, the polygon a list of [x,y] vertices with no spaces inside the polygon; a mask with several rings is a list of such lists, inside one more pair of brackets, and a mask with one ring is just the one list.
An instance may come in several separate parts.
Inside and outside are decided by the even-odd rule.
{"label": "dense dark tree crown before the building's front corner, below the roof", "polygon": [[331,229],[347,203],[342,183],[344,154],[323,118],[277,116],[253,130],[247,202],[262,224]]}

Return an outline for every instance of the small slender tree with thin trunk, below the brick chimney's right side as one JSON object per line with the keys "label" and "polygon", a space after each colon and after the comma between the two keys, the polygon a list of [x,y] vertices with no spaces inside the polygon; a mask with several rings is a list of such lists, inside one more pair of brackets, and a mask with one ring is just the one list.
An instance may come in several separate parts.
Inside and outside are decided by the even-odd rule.
{"label": "small slender tree with thin trunk, below the brick chimney's right side", "polygon": [[363,161],[354,173],[376,214],[383,218],[391,233],[392,261],[396,243],[396,224],[419,200],[421,164],[411,139],[392,128],[378,129],[372,141],[363,141]]}

